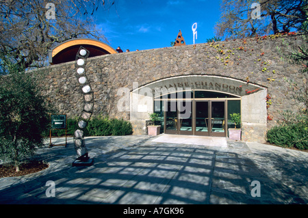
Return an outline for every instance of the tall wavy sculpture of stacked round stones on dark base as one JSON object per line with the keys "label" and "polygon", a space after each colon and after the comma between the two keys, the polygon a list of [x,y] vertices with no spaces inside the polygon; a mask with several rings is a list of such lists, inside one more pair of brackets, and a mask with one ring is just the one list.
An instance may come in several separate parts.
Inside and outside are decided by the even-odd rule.
{"label": "tall wavy sculpture of stacked round stones on dark base", "polygon": [[88,156],[88,150],[86,148],[84,139],[84,131],[92,116],[94,108],[94,93],[84,68],[86,66],[86,61],[89,54],[90,52],[87,49],[84,49],[83,46],[80,46],[75,60],[75,68],[77,68],[75,74],[84,97],[84,109],[79,117],[76,125],[76,131],[74,133],[74,146],[78,158],[73,162],[73,166],[89,166],[94,162],[94,160],[90,159]]}

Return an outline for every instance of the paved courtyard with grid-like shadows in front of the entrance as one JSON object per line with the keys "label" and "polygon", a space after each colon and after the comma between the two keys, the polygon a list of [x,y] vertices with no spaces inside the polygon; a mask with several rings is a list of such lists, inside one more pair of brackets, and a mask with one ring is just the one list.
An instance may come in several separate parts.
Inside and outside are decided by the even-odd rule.
{"label": "paved courtyard with grid-like shadows in front of the entrance", "polygon": [[0,204],[308,204],[307,152],[210,137],[88,137],[94,165],[72,167],[72,138],[48,146],[36,157],[49,168],[0,178]]}

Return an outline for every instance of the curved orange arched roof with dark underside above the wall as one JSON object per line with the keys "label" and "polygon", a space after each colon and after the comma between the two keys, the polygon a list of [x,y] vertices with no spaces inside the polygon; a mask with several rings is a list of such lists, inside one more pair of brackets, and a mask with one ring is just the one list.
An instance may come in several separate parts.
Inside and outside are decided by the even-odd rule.
{"label": "curved orange arched roof with dark underside above the wall", "polygon": [[88,38],[73,39],[62,42],[62,44],[51,49],[51,51],[49,51],[49,63],[61,64],[74,61],[80,46],[83,46],[90,51],[89,57],[118,53],[111,46],[100,42],[99,40]]}

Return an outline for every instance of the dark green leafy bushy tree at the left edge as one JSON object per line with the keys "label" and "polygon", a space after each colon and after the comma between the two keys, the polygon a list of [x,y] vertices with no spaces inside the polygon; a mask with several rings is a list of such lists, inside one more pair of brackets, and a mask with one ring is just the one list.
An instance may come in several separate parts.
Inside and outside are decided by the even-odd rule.
{"label": "dark green leafy bushy tree at the left edge", "polygon": [[11,65],[10,74],[0,76],[0,160],[18,171],[20,162],[43,146],[51,109],[31,74],[16,69]]}

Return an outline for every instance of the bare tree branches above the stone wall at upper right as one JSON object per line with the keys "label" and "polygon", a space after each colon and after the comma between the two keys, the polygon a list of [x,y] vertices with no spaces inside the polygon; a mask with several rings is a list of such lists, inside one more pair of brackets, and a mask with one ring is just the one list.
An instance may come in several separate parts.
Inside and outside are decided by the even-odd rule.
{"label": "bare tree branches above the stone wall at upper right", "polygon": [[[222,38],[245,38],[289,32],[307,18],[307,0],[222,0],[222,14],[215,26]],[[253,7],[252,7],[253,6]],[[258,13],[259,12],[259,13]]]}

